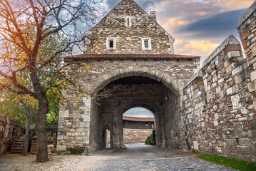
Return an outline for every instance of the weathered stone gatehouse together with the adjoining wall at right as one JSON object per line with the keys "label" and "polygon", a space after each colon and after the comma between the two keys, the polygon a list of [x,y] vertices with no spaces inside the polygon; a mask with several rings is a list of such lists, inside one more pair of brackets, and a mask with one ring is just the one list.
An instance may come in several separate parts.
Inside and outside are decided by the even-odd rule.
{"label": "weathered stone gatehouse together with the adjoining wall at right", "polygon": [[[81,83],[89,83],[91,92],[118,88],[101,100],[101,105],[92,98],[79,98],[63,105],[58,150],[75,146],[87,147],[87,152],[101,149],[106,129],[111,132],[111,147],[123,147],[122,115],[130,108],[143,107],[155,116],[158,147],[192,149],[255,161],[255,4],[241,17],[237,27],[247,58],[242,58],[237,39],[229,36],[200,69],[199,57],[172,54],[169,45],[173,40],[167,43],[165,31],[160,27],[150,29],[155,20],[132,0],[121,1],[92,29],[95,53],[88,48],[86,55],[65,58],[66,63],[83,62],[91,67],[90,76],[84,71],[72,75],[75,73],[72,71],[78,71],[76,65],[67,68]],[[132,10],[124,10],[129,6],[133,6]],[[124,16],[131,16],[129,28]],[[140,19],[143,22],[133,23],[136,17],[143,18]],[[135,39],[127,39],[131,32],[128,29],[136,24],[142,24],[137,27],[143,31],[136,31],[134,27]],[[152,50],[142,50],[145,30],[152,31],[147,35],[152,35]],[[118,40],[116,49],[108,49],[108,36]],[[158,41],[153,41],[157,39],[154,36],[158,36]],[[65,95],[74,94],[66,92]]]}

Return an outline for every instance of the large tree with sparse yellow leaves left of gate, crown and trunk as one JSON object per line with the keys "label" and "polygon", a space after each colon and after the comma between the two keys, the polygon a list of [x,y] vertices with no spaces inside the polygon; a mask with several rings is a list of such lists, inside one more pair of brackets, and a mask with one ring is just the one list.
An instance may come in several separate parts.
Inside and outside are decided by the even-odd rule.
{"label": "large tree with sparse yellow leaves left of gate, crown and trunk", "polygon": [[[97,0],[0,0],[3,52],[0,57],[0,90],[30,95],[38,100],[37,162],[48,160],[46,93],[66,86],[56,81],[56,77],[70,81],[63,73],[61,56],[72,55],[75,47],[83,49],[81,42],[86,38],[88,29],[98,20],[100,12],[101,6]],[[61,46],[54,43],[46,45],[54,36],[63,40]],[[24,74],[30,77],[32,90],[21,79]],[[71,85],[76,86],[76,83],[72,82]]]}

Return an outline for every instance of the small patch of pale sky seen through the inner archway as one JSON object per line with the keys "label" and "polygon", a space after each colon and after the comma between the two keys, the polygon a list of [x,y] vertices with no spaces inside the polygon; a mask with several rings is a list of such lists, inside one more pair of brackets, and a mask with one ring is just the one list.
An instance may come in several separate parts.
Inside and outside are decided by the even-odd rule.
{"label": "small patch of pale sky seen through the inner archway", "polygon": [[154,118],[153,113],[145,108],[131,108],[123,113],[125,116],[139,117],[139,118]]}

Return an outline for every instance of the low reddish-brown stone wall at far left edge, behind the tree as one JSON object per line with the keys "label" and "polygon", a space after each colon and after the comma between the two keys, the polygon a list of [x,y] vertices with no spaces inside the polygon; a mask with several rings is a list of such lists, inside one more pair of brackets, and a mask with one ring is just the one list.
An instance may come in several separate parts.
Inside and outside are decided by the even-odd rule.
{"label": "low reddish-brown stone wall at far left edge, behind the tree", "polygon": [[22,136],[24,133],[24,125],[0,115],[0,155],[11,150],[15,136]]}

